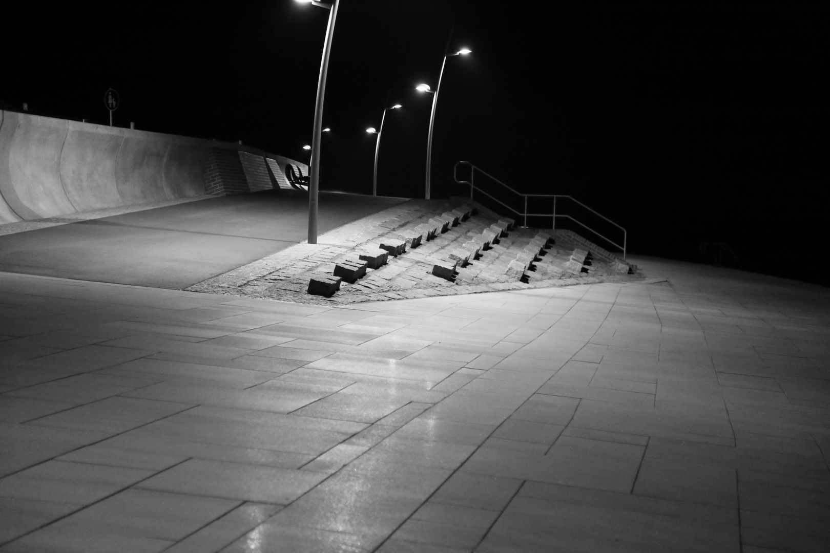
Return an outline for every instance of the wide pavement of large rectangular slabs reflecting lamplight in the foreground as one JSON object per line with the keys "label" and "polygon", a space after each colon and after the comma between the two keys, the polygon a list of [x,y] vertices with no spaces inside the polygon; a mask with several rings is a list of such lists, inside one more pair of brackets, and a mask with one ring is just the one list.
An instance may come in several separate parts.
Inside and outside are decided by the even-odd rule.
{"label": "wide pavement of large rectangular slabs reflecting lamplight in the foreground", "polygon": [[828,551],[830,291],[0,274],[0,551]]}

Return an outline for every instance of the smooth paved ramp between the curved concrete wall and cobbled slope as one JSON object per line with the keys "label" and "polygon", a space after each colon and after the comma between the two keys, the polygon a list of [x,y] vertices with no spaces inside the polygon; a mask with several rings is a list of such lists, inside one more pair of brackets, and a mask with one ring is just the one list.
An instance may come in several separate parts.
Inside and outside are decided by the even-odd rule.
{"label": "smooth paved ramp between the curved concrete wall and cobbled slope", "polygon": [[[319,231],[403,201],[320,192]],[[215,197],[0,233],[0,271],[185,289],[305,240],[307,222],[305,192]]]}

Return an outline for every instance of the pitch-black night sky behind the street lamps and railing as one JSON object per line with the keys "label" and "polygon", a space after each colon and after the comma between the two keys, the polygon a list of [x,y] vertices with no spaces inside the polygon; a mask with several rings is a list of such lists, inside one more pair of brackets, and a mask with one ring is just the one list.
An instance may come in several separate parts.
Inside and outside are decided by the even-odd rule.
{"label": "pitch-black night sky behind the street lamps and railing", "polygon": [[[720,5],[719,5],[720,4]],[[0,8],[0,104],[242,140],[308,161],[329,12],[270,2],[38,2]],[[325,100],[324,190],[465,193],[459,160],[521,192],[569,194],[628,229],[629,251],[830,284],[828,9],[805,2],[341,0]],[[477,177],[478,178],[478,177]],[[482,186],[486,179],[479,179]],[[574,215],[583,218],[578,212]],[[531,221],[534,224],[548,224]],[[605,230],[605,229],[600,229]],[[610,230],[608,230],[610,232]]]}

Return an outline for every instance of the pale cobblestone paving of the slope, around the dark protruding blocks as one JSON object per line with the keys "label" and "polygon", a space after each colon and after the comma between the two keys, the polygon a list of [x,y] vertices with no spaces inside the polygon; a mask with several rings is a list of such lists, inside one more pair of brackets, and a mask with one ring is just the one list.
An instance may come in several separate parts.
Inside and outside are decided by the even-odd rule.
{"label": "pale cobblestone paving of the slope, around the dark protruding blocks", "polygon": [[[583,271],[574,273],[564,269],[576,245],[565,243],[551,247],[535,262],[535,271],[526,272],[522,282],[510,276],[508,266],[522,254],[524,248],[533,249],[531,240],[538,231],[532,229],[510,230],[500,239],[480,252],[476,260],[464,269],[458,269],[454,281],[432,274],[436,260],[447,257],[451,251],[481,235],[482,230],[496,223],[497,214],[477,206],[479,213],[469,220],[440,231],[433,240],[426,240],[403,255],[389,256],[388,264],[378,269],[368,269],[366,276],[354,284],[343,282],[340,290],[331,298],[307,293],[310,275],[332,274],[334,264],[347,255],[364,249],[376,250],[383,240],[397,240],[403,230],[411,230],[427,223],[442,213],[471,206],[469,201],[410,200],[372,216],[364,217],[348,225],[320,235],[318,244],[300,243],[269,255],[251,264],[243,265],[225,274],[207,279],[188,288],[192,292],[227,293],[251,298],[269,298],[295,303],[317,305],[342,305],[388,299],[425,298],[458,293],[481,293],[495,290],[515,290],[593,284],[599,282],[642,279],[641,275],[625,275],[613,267],[595,262]],[[434,226],[434,225],[433,225]],[[545,235],[549,236],[549,235]],[[580,246],[583,246],[580,244]],[[459,264],[459,267],[461,265]]]}

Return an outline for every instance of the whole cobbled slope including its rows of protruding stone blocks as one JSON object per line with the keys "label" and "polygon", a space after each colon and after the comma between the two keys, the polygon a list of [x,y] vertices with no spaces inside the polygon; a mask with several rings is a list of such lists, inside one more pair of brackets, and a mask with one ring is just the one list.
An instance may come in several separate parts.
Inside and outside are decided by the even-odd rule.
{"label": "whole cobbled slope including its rows of protruding stone blocks", "polygon": [[354,303],[596,283],[636,271],[569,230],[520,228],[454,198],[405,202],[190,289]]}

